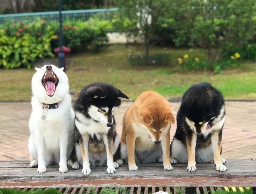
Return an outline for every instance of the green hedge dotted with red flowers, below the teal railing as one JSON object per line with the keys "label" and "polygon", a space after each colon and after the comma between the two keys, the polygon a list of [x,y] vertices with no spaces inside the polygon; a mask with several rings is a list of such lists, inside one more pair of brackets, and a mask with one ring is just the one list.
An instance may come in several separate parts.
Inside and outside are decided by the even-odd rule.
{"label": "green hedge dotted with red flowers, below the teal railing", "polygon": [[[72,53],[84,50],[99,52],[108,42],[112,24],[91,18],[87,22],[63,23],[64,45]],[[59,46],[59,23],[37,19],[35,22],[0,25],[0,68],[31,67],[38,58],[53,57]]]}

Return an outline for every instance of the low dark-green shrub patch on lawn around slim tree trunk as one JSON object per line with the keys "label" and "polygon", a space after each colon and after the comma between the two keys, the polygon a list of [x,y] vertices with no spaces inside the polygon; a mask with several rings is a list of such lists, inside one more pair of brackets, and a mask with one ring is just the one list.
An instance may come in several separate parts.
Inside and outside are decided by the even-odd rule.
{"label": "low dark-green shrub patch on lawn around slim tree trunk", "polygon": [[128,62],[132,66],[166,66],[170,65],[171,56],[167,53],[146,55],[132,55],[128,54]]}

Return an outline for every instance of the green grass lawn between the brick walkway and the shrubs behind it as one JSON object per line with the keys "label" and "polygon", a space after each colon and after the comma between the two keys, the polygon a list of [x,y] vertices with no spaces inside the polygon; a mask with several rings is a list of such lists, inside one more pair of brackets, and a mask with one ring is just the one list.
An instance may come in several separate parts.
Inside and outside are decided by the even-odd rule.
{"label": "green grass lawn between the brick walkway and the shrubs behind it", "polygon": [[[210,82],[220,89],[225,99],[256,99],[256,63],[241,63],[240,69],[212,72],[184,72],[177,58],[189,54],[203,59],[201,49],[163,49],[154,47],[151,53],[168,52],[172,65],[165,67],[132,67],[127,62],[128,53],[143,54],[140,47],[109,46],[99,54],[72,55],[74,66],[67,70],[70,88],[80,90],[92,82],[113,84],[134,100],[145,90],[155,90],[165,97],[181,97],[197,82]],[[30,100],[31,78],[34,69],[0,69],[0,100]]]}

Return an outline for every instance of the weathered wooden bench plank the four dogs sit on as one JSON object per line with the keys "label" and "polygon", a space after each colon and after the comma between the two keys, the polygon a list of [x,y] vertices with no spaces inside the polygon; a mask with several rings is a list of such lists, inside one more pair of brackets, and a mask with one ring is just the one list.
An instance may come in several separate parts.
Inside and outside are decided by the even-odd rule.
{"label": "weathered wooden bench plank the four dogs sit on", "polygon": [[[161,163],[138,164],[138,171],[128,171],[123,165],[115,174],[106,174],[106,167],[91,168],[92,174],[82,175],[79,170],[65,174],[57,166],[47,167],[45,174],[38,174],[36,168],[30,168],[28,161],[0,162],[0,187],[33,188],[33,187],[134,187],[176,188],[176,187],[211,187],[256,186],[256,161],[230,159],[226,163],[227,172],[218,172],[214,164],[197,164],[197,171],[186,171],[186,164],[173,165],[173,171],[163,170]],[[159,190],[159,188],[158,188]],[[153,189],[151,190],[151,192]],[[139,191],[137,191],[138,193]],[[68,193],[68,192],[67,192]],[[75,192],[74,192],[75,193]]]}

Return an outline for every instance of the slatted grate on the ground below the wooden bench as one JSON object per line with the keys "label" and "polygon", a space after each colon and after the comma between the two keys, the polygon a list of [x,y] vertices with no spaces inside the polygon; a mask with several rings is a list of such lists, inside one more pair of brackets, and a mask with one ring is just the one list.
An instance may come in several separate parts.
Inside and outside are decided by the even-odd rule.
{"label": "slatted grate on the ground below the wooden bench", "polygon": [[[167,191],[173,194],[212,194],[216,190],[243,192],[250,187],[60,187],[56,188],[63,194],[150,194]],[[16,188],[22,191],[33,191],[35,188]],[[46,188],[38,188],[46,189]],[[252,188],[255,190],[255,187]]]}

